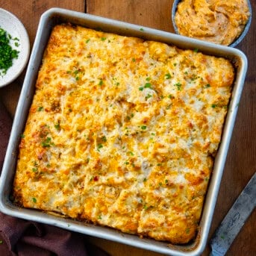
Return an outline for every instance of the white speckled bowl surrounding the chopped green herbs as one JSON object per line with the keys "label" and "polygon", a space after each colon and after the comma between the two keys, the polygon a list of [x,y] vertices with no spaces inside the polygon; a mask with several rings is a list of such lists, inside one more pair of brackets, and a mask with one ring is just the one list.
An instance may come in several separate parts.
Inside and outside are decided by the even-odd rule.
{"label": "white speckled bowl surrounding the chopped green herbs", "polygon": [[[10,46],[19,51],[17,59],[13,59],[13,65],[7,69],[6,74],[0,75],[0,87],[10,84],[25,68],[30,53],[28,33],[20,20],[13,13],[0,8],[0,28],[10,34]],[[18,38],[19,40],[13,40]]]}

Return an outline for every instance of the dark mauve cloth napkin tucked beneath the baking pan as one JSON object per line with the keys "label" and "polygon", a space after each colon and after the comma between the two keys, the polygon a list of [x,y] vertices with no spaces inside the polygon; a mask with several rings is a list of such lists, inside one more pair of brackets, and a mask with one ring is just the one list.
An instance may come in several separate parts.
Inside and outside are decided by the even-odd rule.
{"label": "dark mauve cloth napkin tucked beneath the baking pan", "polygon": [[[0,170],[11,125],[12,119],[0,102]],[[83,234],[0,213],[0,255],[107,256],[107,253],[87,243],[87,238]]]}

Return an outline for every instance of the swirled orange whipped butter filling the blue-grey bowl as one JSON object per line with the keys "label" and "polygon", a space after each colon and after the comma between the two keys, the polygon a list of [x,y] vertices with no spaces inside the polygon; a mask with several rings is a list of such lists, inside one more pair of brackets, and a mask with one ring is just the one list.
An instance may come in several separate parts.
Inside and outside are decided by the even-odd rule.
{"label": "swirled orange whipped butter filling the blue-grey bowl", "polygon": [[247,0],[183,0],[175,24],[181,35],[228,46],[243,32],[250,15]]}

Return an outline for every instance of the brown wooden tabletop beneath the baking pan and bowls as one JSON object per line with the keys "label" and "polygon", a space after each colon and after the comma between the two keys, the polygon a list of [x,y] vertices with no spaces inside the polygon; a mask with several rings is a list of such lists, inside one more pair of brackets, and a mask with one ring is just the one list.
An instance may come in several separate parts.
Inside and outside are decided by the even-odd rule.
{"label": "brown wooden tabletop beneath the baking pan and bowls", "polygon": [[[252,0],[252,9],[256,11],[256,1]],[[172,32],[171,8],[172,0],[0,0],[0,7],[14,13],[28,31],[31,46],[34,43],[35,33],[41,14],[50,7],[64,7],[85,13],[96,14],[125,22],[158,28]],[[219,225],[234,200],[240,194],[249,178],[255,172],[256,163],[256,19],[252,19],[249,34],[238,46],[248,57],[249,69],[241,98],[237,122],[231,140],[230,151],[225,164],[225,172],[216,210],[210,228],[210,236]],[[0,100],[4,102],[10,114],[15,113],[16,102],[22,87],[24,73],[13,84],[0,89]],[[227,255],[255,255],[256,254],[256,214],[249,217],[242,231],[237,236]],[[210,237],[209,236],[209,237]],[[119,243],[101,240],[93,237],[89,239],[101,246],[110,255],[138,255],[156,256],[154,252],[136,249]],[[208,255],[209,248],[203,255]]]}

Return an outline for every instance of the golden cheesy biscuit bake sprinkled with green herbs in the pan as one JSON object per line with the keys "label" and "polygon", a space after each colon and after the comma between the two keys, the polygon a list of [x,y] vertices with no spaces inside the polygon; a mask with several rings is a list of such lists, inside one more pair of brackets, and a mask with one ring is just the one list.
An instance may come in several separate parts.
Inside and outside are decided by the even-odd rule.
{"label": "golden cheesy biscuit bake sprinkled with green herbs in the pan", "polygon": [[14,202],[189,242],[233,80],[222,57],[56,25],[19,145]]}

